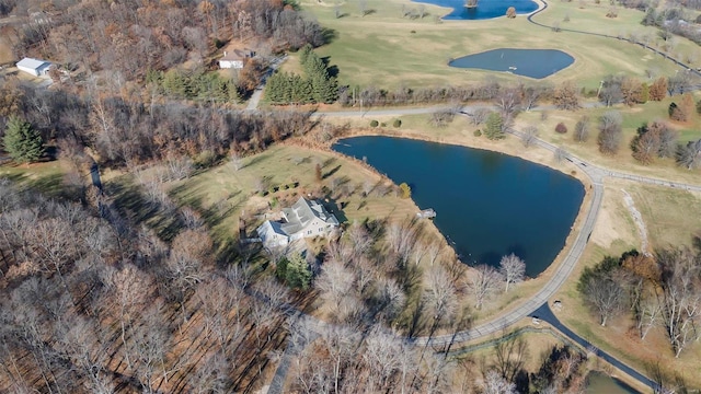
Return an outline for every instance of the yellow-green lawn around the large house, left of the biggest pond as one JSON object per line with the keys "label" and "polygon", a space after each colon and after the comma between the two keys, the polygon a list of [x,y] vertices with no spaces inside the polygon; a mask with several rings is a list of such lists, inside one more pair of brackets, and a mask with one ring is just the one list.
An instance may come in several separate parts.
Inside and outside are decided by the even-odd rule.
{"label": "yellow-green lawn around the large house, left of the biggest pond", "polygon": [[[315,165],[322,165],[324,179],[315,181]],[[388,194],[377,196],[371,193],[367,198],[360,196],[366,183],[388,184],[375,172],[360,163],[345,159],[334,152],[309,150],[298,146],[274,146],[268,150],[245,158],[243,166],[234,171],[231,164],[225,164],[173,185],[171,195],[176,201],[199,210],[212,207],[223,212],[217,221],[214,232],[220,236],[238,233],[239,218],[254,212],[266,211],[269,206],[279,210],[308,193],[319,195],[323,186],[331,187],[333,179],[354,190],[349,197],[336,204],[343,205],[342,221],[370,219],[404,219],[417,212],[411,199],[402,199]],[[281,186],[297,182],[298,187],[280,189],[265,197],[255,194],[256,183],[263,181],[269,186]],[[266,187],[267,189],[267,187]],[[248,215],[245,215],[248,212]],[[258,222],[260,223],[260,222]],[[256,224],[256,223],[251,223]],[[252,229],[249,229],[252,230]]]}

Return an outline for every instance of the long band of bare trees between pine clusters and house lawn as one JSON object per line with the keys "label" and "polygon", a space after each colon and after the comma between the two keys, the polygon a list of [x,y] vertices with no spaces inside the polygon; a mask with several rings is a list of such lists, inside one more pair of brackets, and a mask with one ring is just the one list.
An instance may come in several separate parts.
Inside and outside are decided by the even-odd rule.
{"label": "long band of bare trees between pine clusters and house lawn", "polygon": [[4,103],[0,126],[14,116],[59,147],[67,159],[90,148],[103,165],[124,166],[168,158],[189,158],[207,166],[227,157],[265,149],[269,143],[313,128],[309,113],[244,113],[217,106],[127,101],[119,96],[80,96],[37,90],[19,81],[0,86]]}

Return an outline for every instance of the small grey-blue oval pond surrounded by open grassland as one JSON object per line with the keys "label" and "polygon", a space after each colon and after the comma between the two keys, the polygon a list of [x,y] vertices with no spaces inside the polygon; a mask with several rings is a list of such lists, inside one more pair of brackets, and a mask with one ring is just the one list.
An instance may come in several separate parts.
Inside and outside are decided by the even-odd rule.
{"label": "small grey-blue oval pond surrounded by open grassland", "polygon": [[556,49],[499,48],[451,60],[448,66],[466,69],[504,71],[541,79],[568,67],[574,58]]}

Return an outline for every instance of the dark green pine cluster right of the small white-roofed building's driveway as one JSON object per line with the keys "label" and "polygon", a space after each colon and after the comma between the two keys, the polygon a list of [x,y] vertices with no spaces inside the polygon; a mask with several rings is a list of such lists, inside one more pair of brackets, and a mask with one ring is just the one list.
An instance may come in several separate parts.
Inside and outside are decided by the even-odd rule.
{"label": "dark green pine cluster right of the small white-roofed building's driveway", "polygon": [[333,103],[338,99],[338,82],[326,62],[314,54],[311,45],[300,49],[304,74],[278,72],[267,81],[266,97],[272,104]]}

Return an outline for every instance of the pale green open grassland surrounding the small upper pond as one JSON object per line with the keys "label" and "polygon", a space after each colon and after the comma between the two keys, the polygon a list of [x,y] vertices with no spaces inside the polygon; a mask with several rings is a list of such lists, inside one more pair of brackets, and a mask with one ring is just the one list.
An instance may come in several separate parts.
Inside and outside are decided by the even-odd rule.
{"label": "pale green open grassland surrounding the small upper pond", "polygon": [[[322,25],[336,32],[337,37],[330,45],[319,48],[318,53],[329,56],[331,65],[338,67],[342,84],[375,85],[392,90],[399,86],[467,84],[484,81],[486,78],[503,82],[537,81],[508,73],[447,67],[447,61],[451,58],[498,47],[553,48],[570,53],[575,57],[575,63],[542,81],[559,83],[576,80],[579,85],[588,89],[597,88],[607,74],[623,72],[646,80],[648,70],[658,76],[671,74],[678,69],[639,46],[604,37],[554,33],[530,24],[525,16],[515,20],[499,18],[436,23],[434,16],[445,14],[445,9],[426,5],[430,16],[411,21],[401,16],[402,5],[417,7],[409,0],[369,0],[367,3],[368,9],[375,10],[374,13],[363,18],[354,2],[346,2],[342,5],[346,15],[335,19],[330,1],[301,1],[301,5],[312,12]],[[572,4],[574,3],[568,7],[574,8]],[[564,5],[559,2],[551,4],[537,18],[544,18],[553,12],[551,8],[558,10],[559,7]],[[605,10],[606,8],[601,8],[595,12],[575,9],[564,12],[571,12],[570,23],[573,26],[574,23],[586,25],[589,31],[616,31],[618,34],[619,31],[631,31],[634,26],[644,28],[640,25],[642,12],[620,10],[619,18],[607,19],[604,16]],[[582,13],[575,16],[574,11]],[[556,18],[560,19],[560,15]],[[679,38],[679,42],[682,39]],[[686,46],[679,44],[679,48]],[[298,67],[296,63],[297,60],[292,57],[285,69],[294,70]]]}

